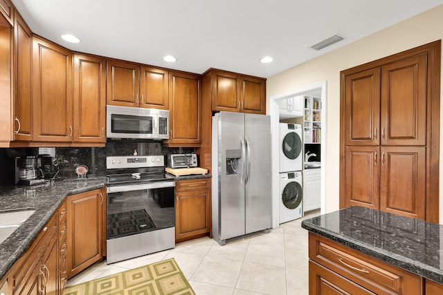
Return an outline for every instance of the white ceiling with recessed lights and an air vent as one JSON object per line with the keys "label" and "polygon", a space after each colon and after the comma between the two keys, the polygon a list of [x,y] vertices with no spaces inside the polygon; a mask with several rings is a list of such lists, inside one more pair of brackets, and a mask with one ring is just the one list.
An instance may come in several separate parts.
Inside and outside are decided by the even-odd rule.
{"label": "white ceiling with recessed lights and an air vent", "polygon": [[[270,77],[443,0],[12,0],[30,28],[71,50],[192,73]],[[442,16],[443,17],[443,16]],[[69,44],[60,35],[81,39]],[[316,51],[332,35],[345,39]],[[163,61],[174,55],[173,64]],[[265,55],[271,64],[260,64]]]}

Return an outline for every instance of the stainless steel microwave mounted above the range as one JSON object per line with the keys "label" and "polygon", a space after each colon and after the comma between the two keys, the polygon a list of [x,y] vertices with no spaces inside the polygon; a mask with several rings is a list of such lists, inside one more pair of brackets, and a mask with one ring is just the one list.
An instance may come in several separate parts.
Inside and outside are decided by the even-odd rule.
{"label": "stainless steel microwave mounted above the range", "polygon": [[169,138],[169,111],[155,108],[106,106],[106,137],[165,140]]}

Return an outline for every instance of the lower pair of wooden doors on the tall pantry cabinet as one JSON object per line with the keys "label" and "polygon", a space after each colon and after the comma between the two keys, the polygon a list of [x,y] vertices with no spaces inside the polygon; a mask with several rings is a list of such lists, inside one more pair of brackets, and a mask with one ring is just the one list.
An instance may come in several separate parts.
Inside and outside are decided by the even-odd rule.
{"label": "lower pair of wooden doors on the tall pantry cabinet", "polygon": [[347,146],[345,207],[426,219],[424,146]]}

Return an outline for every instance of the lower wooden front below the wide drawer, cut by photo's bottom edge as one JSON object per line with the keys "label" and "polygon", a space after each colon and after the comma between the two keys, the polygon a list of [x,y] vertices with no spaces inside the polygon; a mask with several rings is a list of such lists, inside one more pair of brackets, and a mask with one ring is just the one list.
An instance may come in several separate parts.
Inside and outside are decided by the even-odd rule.
{"label": "lower wooden front below the wide drawer, cut by photo's bottom edge", "polygon": [[309,260],[309,294],[372,294],[368,289]]}

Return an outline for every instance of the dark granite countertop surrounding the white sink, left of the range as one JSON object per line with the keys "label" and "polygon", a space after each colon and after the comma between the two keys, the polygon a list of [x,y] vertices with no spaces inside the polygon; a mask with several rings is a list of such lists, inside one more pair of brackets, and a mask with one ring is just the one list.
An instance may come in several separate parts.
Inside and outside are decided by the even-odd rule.
{"label": "dark granite countertop surrounding the white sink, left of the range", "polygon": [[0,279],[26,251],[66,196],[105,187],[105,178],[58,180],[33,187],[0,187],[0,211],[34,209],[35,213],[0,243]]}

